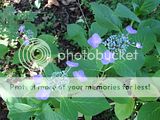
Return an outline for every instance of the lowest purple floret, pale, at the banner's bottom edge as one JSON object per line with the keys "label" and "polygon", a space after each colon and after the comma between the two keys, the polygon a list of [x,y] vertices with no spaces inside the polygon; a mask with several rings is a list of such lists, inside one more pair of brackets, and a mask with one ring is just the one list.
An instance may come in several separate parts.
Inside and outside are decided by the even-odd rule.
{"label": "lowest purple floret, pale, at the banner's bottom edge", "polygon": [[50,96],[50,91],[41,89],[36,93],[36,98],[38,100],[47,100]]}

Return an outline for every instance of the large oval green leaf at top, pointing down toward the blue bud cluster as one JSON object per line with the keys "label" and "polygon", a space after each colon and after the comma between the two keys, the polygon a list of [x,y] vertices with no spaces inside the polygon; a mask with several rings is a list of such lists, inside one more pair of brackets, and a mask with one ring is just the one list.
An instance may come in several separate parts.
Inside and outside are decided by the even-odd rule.
{"label": "large oval green leaf at top, pointing down toward the blue bud cluster", "polygon": [[120,19],[109,7],[103,4],[91,3],[91,9],[93,10],[95,20],[99,25],[104,26],[108,31],[121,30],[122,24]]}

